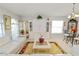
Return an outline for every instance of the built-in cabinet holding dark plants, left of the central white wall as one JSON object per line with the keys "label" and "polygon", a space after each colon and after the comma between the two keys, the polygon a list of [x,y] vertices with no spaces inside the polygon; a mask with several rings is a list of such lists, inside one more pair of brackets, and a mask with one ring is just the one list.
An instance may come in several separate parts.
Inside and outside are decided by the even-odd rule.
{"label": "built-in cabinet holding dark plants, left of the central white wall", "polygon": [[19,36],[27,36],[29,33],[28,21],[19,21]]}

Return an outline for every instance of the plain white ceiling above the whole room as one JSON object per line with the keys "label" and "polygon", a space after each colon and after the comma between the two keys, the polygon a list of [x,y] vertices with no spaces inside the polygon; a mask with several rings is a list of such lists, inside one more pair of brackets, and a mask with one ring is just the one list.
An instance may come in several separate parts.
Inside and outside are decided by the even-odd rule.
{"label": "plain white ceiling above the whole room", "polygon": [[[67,16],[72,13],[72,3],[0,3],[5,8],[21,16]],[[75,12],[79,14],[79,4],[75,5]]]}

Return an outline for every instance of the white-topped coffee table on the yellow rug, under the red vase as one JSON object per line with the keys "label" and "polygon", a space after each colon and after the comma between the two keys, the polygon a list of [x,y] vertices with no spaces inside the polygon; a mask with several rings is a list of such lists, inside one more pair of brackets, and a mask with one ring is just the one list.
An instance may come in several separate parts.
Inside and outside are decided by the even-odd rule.
{"label": "white-topped coffee table on the yellow rug, under the red vase", "polygon": [[48,42],[48,40],[45,40],[44,43],[39,43],[39,41],[35,40],[34,44],[33,44],[33,52],[38,51],[40,52],[42,51],[48,51],[51,48],[50,43]]}

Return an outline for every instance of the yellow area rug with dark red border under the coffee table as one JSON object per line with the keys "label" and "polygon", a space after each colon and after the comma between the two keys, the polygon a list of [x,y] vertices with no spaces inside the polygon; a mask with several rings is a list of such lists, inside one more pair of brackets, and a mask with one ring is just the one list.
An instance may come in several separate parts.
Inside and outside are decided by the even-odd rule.
{"label": "yellow area rug with dark red border under the coffee table", "polygon": [[57,43],[50,43],[51,48],[47,50],[35,50],[33,51],[33,43],[26,44],[19,54],[66,54]]}

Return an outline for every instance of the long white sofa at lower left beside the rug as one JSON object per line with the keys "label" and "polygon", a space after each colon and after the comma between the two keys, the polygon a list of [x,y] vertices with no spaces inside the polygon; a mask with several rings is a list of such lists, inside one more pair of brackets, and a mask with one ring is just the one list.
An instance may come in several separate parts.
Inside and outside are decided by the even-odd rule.
{"label": "long white sofa at lower left beside the rug", "polygon": [[25,43],[25,37],[18,37],[17,40],[11,40],[10,37],[0,38],[0,54],[18,53]]}

